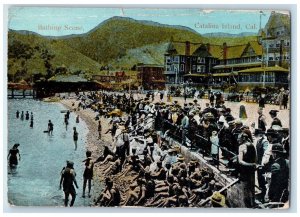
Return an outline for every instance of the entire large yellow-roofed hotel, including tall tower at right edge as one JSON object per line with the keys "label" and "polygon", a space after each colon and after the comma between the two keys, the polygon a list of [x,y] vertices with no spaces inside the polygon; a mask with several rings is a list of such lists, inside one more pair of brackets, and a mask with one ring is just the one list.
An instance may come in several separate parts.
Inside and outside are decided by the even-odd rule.
{"label": "entire large yellow-roofed hotel, including tall tower at right edge", "polygon": [[173,41],[165,52],[166,85],[287,86],[290,17],[272,13],[258,41],[228,46]]}

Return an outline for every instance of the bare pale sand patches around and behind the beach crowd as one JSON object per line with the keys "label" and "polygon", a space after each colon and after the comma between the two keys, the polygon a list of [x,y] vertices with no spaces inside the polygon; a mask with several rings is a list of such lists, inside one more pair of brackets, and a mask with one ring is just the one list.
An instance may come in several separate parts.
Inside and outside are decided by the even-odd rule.
{"label": "bare pale sand patches around and behind the beach crowd", "polygon": [[[140,95],[141,98],[144,98],[144,95]],[[184,104],[183,98],[173,98],[173,101],[176,100],[180,105]],[[155,96],[154,103],[159,101],[159,96]],[[166,98],[163,99],[164,102],[166,102]],[[192,102],[193,99],[189,98],[187,100],[187,103]],[[208,99],[198,99],[198,103],[201,106],[201,108],[205,108],[205,103],[209,102]],[[80,119],[83,120],[88,129],[89,132],[87,134],[87,140],[85,143],[86,149],[92,151],[92,158],[96,160],[99,156],[102,155],[104,145],[108,145],[111,150],[113,150],[113,141],[111,138],[111,134],[104,134],[109,128],[109,119],[107,118],[101,118],[101,124],[102,124],[102,136],[101,139],[98,139],[98,121],[95,120],[96,113],[88,108],[88,109],[80,109],[79,111],[76,110],[78,107],[79,101],[76,99],[63,99],[60,100],[60,103],[62,103],[67,109],[69,109],[71,112],[75,112],[76,115],[79,115]],[[170,102],[166,102],[170,103]],[[73,105],[72,105],[73,104]],[[248,118],[243,120],[244,124],[247,124],[248,126],[255,122],[257,124],[257,109],[258,105],[256,103],[236,103],[236,102],[225,102],[225,105],[230,107],[232,109],[232,114],[235,118],[239,117],[239,108],[240,105],[245,105],[246,111],[248,114]],[[269,116],[269,111],[271,109],[278,109],[277,105],[266,105],[266,108],[264,109],[264,114],[266,115],[266,121],[267,123],[271,122],[271,117]],[[76,110],[76,111],[75,111]],[[279,112],[279,118],[282,120],[283,127],[289,127],[289,119],[287,118],[289,116],[289,110],[280,110]],[[80,133],[80,132],[79,132]],[[83,156],[84,157],[84,156]],[[129,188],[129,185],[133,182],[133,179],[135,176],[128,173],[126,177],[123,176],[122,173],[117,175],[109,175],[109,173],[104,173],[104,171],[108,168],[107,165],[99,165],[95,164],[94,167],[94,180],[93,180],[93,186],[91,190],[91,206],[94,206],[93,201],[98,198],[100,195],[102,188],[104,186],[104,179],[105,176],[109,176],[114,180],[114,183],[119,187],[119,190],[121,194],[124,196],[126,190]],[[106,171],[107,172],[107,171]],[[81,189],[80,189],[81,191]],[[80,192],[79,191],[79,192]],[[80,195],[81,196],[81,195]]]}

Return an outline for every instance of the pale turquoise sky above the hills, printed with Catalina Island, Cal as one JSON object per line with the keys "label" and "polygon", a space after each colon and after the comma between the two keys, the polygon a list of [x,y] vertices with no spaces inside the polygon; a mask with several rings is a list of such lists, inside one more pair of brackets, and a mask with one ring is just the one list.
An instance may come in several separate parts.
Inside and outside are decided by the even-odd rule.
{"label": "pale turquoise sky above the hills, printed with Catalina Island, Cal", "polygon": [[29,30],[41,35],[63,36],[82,34],[113,16],[150,20],[161,24],[181,25],[200,34],[225,32],[257,33],[267,23],[271,11],[156,9],[156,8],[76,8],[76,7],[18,7],[8,9],[8,28]]}

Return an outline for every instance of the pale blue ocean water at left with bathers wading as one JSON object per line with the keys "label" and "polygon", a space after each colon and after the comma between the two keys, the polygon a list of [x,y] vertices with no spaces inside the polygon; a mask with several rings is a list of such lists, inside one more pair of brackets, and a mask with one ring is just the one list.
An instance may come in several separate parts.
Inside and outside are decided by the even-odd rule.
{"label": "pale blue ocean water at left with bathers wading", "polygon": [[[33,112],[34,125],[30,120],[16,118],[16,111]],[[59,103],[47,103],[33,99],[8,100],[8,143],[7,151],[19,143],[21,161],[17,169],[7,168],[8,202],[15,206],[63,206],[64,194],[59,190],[60,172],[66,160],[74,162],[79,185],[74,206],[89,206],[90,199],[82,198],[86,124],[80,119],[75,122],[75,113],[70,114],[66,130],[64,114],[66,108]],[[53,135],[44,133],[48,120],[54,124]],[[77,150],[73,142],[73,127],[79,133]]]}

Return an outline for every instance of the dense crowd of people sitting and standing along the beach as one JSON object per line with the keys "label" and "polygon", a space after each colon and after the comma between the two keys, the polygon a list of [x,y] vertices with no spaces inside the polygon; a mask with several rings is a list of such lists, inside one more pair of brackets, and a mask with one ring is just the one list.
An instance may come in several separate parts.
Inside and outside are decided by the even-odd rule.
{"label": "dense crowd of people sitting and standing along the beach", "polygon": [[[197,99],[181,106],[176,101],[166,104],[161,97],[160,102],[154,102],[151,95],[78,94],[74,110],[90,108],[96,112],[99,139],[101,120],[106,119],[111,126],[103,133],[111,134],[113,145],[105,146],[97,159],[88,157],[88,165],[93,162],[105,180],[95,205],[197,207],[209,199],[210,206],[230,206],[226,191],[220,191],[223,183],[196,159],[185,159],[174,141],[211,159],[216,167],[225,165],[230,175],[239,179],[240,187],[247,189],[244,207],[255,207],[255,199],[261,203],[286,202],[289,131],[282,128],[278,110],[269,112],[273,121],[266,123],[264,109],[259,108],[254,132],[253,126],[233,117],[223,99],[220,93],[201,108]],[[93,178],[88,177],[85,185]],[[255,196],[255,179],[259,197]]]}

